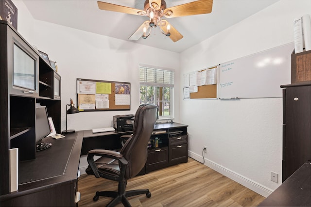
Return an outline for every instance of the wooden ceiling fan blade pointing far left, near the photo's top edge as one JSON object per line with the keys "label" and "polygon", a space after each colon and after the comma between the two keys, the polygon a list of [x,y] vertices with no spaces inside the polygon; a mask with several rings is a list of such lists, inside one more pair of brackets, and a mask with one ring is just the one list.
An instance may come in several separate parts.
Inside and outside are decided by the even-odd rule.
{"label": "wooden ceiling fan blade pointing far left, near the photo's top edge", "polygon": [[112,3],[106,3],[103,1],[97,1],[98,8],[106,11],[112,11],[112,12],[121,12],[131,15],[145,15],[146,12],[140,9],[135,9],[131,7],[116,5]]}

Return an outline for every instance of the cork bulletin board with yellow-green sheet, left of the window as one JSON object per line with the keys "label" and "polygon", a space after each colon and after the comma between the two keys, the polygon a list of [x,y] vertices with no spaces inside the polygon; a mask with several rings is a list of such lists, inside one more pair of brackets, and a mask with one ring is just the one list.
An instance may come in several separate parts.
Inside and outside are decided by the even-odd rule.
{"label": "cork bulletin board with yellow-green sheet, left of the window", "polygon": [[77,79],[79,111],[131,110],[131,83]]}

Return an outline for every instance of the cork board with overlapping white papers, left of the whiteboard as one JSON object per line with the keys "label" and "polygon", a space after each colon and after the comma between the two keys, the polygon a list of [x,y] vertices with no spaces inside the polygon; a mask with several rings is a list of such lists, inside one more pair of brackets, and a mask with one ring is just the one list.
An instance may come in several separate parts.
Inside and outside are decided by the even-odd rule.
{"label": "cork board with overlapping white papers, left of the whiteboard", "polygon": [[184,99],[217,98],[218,65],[183,75]]}

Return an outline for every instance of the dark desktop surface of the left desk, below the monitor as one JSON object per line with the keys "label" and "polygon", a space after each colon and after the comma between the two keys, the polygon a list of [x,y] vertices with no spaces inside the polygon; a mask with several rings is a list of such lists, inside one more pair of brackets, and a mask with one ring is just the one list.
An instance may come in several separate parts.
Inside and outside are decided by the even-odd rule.
{"label": "dark desktop surface of the left desk, below the monitor", "polygon": [[76,182],[83,133],[66,135],[63,139],[44,138],[52,143],[46,150],[36,152],[36,159],[23,161],[18,167],[18,191],[1,195],[1,202],[22,195],[44,191],[66,182]]}

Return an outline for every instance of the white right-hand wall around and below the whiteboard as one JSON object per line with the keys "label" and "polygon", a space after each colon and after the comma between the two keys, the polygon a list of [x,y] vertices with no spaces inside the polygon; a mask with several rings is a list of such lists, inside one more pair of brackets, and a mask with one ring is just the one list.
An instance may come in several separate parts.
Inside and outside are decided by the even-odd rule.
{"label": "white right-hand wall around and below the whiteboard", "polygon": [[[293,42],[293,19],[304,14],[311,14],[310,0],[280,0],[182,52],[181,75]],[[280,185],[282,98],[180,101],[191,157],[203,161],[206,145],[207,166],[264,196]]]}

